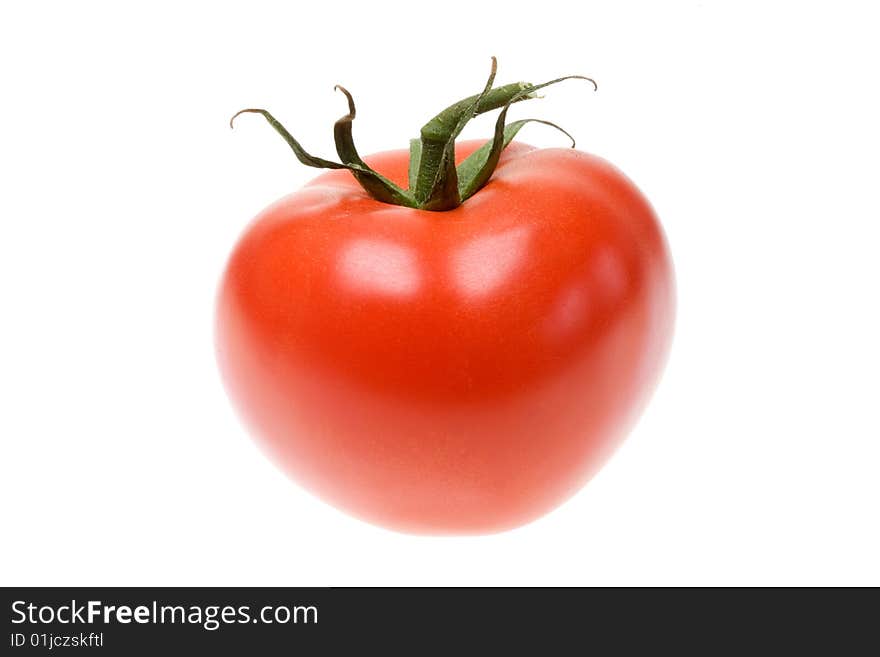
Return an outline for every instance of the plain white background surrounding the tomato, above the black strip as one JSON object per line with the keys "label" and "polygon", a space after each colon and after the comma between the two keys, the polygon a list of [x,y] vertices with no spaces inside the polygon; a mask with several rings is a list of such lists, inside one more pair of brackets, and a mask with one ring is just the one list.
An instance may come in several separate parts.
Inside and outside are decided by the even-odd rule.
{"label": "plain white background surrounding the tomato, above the black strip", "polygon": [[[880,584],[880,102],[870,3],[5,3],[0,583]],[[238,233],[315,171],[500,83],[627,172],[677,268],[668,369],[570,502],[477,538],[343,515],[220,385]],[[465,137],[487,136],[482,117]],[[563,145],[530,126],[521,139]]]}

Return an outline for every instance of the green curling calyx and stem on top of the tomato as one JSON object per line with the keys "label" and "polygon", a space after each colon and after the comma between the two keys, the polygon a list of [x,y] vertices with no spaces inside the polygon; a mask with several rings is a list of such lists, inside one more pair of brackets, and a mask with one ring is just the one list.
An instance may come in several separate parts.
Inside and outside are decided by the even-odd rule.
{"label": "green curling calyx and stem on top of the tomato", "polygon": [[[558,82],[571,79],[586,80],[597,90],[592,78],[568,75],[542,84],[516,82],[493,87],[497,60],[492,57],[492,70],[483,90],[453,103],[421,129],[420,137],[410,141],[409,187],[403,189],[392,180],[373,170],[358,154],[352,136],[352,124],[357,114],[354,98],[340,85],[334,90],[341,92],[348,102],[348,113],[333,126],[336,152],[341,162],[334,162],[309,154],[288,130],[265,109],[247,108],[236,112],[229,120],[233,127],[241,114],[260,114],[290,146],[296,158],[306,166],[319,169],[348,169],[364,191],[382,203],[402,205],[431,211],[452,210],[476,194],[492,177],[501,152],[527,123],[541,123],[555,128],[571,139],[574,138],[555,123],[543,119],[521,119],[506,123],[507,111],[513,103],[538,98],[537,91]],[[474,151],[457,167],[455,165],[455,140],[473,117],[501,108],[495,122],[492,139]]]}

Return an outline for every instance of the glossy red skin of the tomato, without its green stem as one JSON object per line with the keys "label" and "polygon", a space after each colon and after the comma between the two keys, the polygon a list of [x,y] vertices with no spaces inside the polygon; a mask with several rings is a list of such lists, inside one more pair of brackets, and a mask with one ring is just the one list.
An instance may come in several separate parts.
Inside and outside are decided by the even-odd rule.
{"label": "glossy red skin of the tomato, without its green stem", "polygon": [[[406,151],[367,161],[405,184]],[[216,346],[297,482],[393,529],[486,533],[597,471],[655,385],[673,315],[635,186],[594,156],[514,143],[448,212],[379,203],[346,171],[264,210],[227,264]]]}

